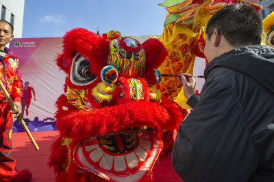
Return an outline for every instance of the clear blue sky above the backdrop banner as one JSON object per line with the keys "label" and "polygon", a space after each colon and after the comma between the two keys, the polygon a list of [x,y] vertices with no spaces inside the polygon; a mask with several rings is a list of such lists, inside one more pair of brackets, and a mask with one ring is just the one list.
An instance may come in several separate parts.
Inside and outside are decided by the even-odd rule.
{"label": "clear blue sky above the backdrop banner", "polygon": [[62,37],[82,27],[122,35],[160,35],[166,10],[157,0],[25,0],[22,37]]}

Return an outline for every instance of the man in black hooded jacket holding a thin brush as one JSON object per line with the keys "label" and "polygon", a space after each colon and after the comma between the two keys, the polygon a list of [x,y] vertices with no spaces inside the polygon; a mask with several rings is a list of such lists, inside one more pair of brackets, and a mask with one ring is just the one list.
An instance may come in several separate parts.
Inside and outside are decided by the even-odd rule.
{"label": "man in black hooded jacket holding a thin brush", "polygon": [[223,7],[206,28],[201,97],[193,78],[178,78],[195,101],[173,147],[184,182],[274,181],[274,49],[260,46],[261,37],[251,5]]}

